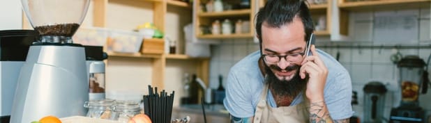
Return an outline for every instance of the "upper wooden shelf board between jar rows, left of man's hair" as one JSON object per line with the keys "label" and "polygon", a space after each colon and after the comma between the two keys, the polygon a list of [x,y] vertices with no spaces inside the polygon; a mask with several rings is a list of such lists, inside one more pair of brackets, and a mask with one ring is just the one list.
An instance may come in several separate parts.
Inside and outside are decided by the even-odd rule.
{"label": "upper wooden shelf board between jar rows, left of man's hair", "polygon": [[199,13],[198,17],[235,17],[235,16],[248,16],[250,15],[250,9],[244,10],[226,10],[223,12],[214,13]]}

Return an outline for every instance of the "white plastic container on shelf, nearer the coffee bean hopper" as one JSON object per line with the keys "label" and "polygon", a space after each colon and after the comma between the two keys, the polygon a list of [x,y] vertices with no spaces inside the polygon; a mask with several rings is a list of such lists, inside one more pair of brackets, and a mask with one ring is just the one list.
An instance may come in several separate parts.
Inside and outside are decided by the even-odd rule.
{"label": "white plastic container on shelf, nearer the coffee bean hopper", "polygon": [[105,46],[109,31],[106,28],[81,27],[73,35],[73,43],[89,46]]}

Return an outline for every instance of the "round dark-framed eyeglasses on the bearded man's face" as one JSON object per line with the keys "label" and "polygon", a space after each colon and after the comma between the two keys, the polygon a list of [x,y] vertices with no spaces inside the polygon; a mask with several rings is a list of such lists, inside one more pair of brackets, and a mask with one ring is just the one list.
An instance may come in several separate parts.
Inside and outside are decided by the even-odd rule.
{"label": "round dark-framed eyeglasses on the bearded man's face", "polygon": [[304,52],[287,54],[285,56],[279,56],[275,54],[263,54],[262,58],[264,58],[264,61],[269,64],[276,64],[280,62],[281,58],[285,58],[285,60],[288,61],[289,63],[298,63],[302,60],[302,56],[304,54],[305,54]]}

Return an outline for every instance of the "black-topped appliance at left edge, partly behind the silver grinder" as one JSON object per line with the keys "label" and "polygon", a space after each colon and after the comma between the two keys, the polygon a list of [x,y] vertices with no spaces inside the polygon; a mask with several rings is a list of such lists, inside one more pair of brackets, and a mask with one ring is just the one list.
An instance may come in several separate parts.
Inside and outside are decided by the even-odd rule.
{"label": "black-topped appliance at left edge, partly behind the silver grinder", "polygon": [[31,30],[0,31],[0,123],[8,123],[17,79],[31,43],[38,33]]}

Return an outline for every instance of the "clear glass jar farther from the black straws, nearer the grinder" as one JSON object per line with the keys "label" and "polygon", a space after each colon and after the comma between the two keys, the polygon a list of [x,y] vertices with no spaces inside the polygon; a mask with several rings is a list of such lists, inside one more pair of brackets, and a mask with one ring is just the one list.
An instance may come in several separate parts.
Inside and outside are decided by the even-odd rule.
{"label": "clear glass jar farther from the black straws, nearer the grinder", "polygon": [[89,108],[89,111],[86,113],[86,117],[111,120],[112,106],[114,102],[115,101],[113,99],[86,101],[84,107]]}

